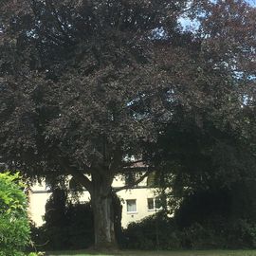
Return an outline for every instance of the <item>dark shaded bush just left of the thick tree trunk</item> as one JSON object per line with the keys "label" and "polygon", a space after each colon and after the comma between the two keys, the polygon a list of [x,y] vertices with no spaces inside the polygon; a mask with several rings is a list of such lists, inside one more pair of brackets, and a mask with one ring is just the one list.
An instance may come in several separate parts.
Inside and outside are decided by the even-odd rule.
{"label": "dark shaded bush just left of the thick tree trunk", "polygon": [[81,249],[94,243],[93,213],[89,203],[72,204],[67,193],[55,189],[46,203],[46,224],[32,227],[39,249]]}

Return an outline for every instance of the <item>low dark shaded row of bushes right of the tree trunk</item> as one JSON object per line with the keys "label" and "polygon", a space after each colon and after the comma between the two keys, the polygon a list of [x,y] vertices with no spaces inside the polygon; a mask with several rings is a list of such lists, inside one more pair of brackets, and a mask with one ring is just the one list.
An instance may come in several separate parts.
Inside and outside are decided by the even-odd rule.
{"label": "low dark shaded row of bushes right of the tree trunk", "polygon": [[256,224],[245,219],[211,215],[201,223],[181,228],[175,218],[156,214],[124,230],[133,249],[237,249],[256,247]]}

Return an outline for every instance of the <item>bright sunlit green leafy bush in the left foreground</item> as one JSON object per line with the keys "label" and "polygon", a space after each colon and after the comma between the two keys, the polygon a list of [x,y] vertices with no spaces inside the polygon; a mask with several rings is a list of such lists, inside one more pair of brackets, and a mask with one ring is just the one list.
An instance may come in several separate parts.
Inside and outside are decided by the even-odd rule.
{"label": "bright sunlit green leafy bush in the left foreground", "polygon": [[21,256],[29,242],[27,198],[18,174],[0,174],[0,256]]}

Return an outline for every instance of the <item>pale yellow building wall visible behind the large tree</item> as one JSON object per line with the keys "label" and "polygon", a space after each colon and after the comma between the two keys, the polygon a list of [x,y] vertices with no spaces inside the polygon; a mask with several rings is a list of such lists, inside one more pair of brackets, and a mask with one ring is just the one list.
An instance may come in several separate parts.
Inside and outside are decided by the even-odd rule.
{"label": "pale yellow building wall visible behind the large tree", "polygon": [[[117,176],[113,181],[113,188],[119,188],[124,185],[124,180]],[[44,215],[46,213],[46,201],[51,192],[46,188],[46,184],[36,184],[31,188],[29,193],[29,215],[31,220],[40,227],[44,224]],[[155,197],[155,190],[146,187],[146,180],[143,180],[137,186],[137,189],[122,190],[118,192],[122,205],[122,220],[121,225],[126,228],[127,225],[134,221],[139,221],[142,218],[155,213],[155,210],[148,210],[148,198]],[[81,201],[88,202],[90,200],[89,192],[83,192],[80,197]],[[136,200],[136,210],[129,211],[127,200]],[[131,201],[130,201],[131,202]],[[134,202],[134,201],[132,201]]]}

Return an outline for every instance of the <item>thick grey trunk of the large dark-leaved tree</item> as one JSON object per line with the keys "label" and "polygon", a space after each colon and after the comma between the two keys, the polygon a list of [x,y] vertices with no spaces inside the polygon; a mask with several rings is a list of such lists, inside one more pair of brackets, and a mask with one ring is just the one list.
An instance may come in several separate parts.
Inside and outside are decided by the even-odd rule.
{"label": "thick grey trunk of the large dark-leaved tree", "polygon": [[93,180],[91,193],[94,213],[95,247],[97,249],[117,248],[111,182],[106,179]]}

